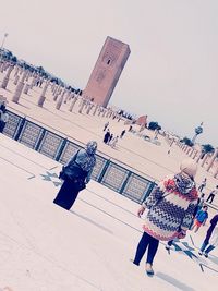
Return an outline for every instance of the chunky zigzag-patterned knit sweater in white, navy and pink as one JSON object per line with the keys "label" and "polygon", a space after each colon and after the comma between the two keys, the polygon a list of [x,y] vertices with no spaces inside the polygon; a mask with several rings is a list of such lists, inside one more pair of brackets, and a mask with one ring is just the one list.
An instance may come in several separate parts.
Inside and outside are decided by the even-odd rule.
{"label": "chunky zigzag-patterned knit sweater in white, navy and pink", "polygon": [[161,241],[187,230],[197,205],[195,182],[182,173],[162,180],[144,202],[148,208],[143,229]]}

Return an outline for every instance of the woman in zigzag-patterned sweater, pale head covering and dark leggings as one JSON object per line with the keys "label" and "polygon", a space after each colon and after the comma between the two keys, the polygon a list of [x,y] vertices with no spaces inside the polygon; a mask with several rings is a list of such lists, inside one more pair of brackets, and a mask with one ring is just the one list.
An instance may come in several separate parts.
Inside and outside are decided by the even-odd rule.
{"label": "woman in zigzag-patterned sweater, pale head covering and dark leggings", "polygon": [[159,241],[184,238],[197,204],[194,182],[196,163],[190,158],[185,159],[181,162],[180,170],[180,173],[164,179],[137,211],[141,217],[148,209],[133,264],[140,265],[148,247],[146,272],[150,276],[154,275],[152,266]]}

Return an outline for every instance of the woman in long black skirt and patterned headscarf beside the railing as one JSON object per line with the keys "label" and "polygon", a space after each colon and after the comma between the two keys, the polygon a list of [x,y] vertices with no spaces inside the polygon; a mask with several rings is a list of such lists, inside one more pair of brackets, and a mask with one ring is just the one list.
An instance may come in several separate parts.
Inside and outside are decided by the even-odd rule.
{"label": "woman in long black skirt and patterned headscarf beside the railing", "polygon": [[96,163],[97,143],[90,141],[85,149],[80,149],[63,167],[60,178],[63,184],[53,203],[69,210],[74,204],[78,192],[85,189],[90,180],[93,168]]}

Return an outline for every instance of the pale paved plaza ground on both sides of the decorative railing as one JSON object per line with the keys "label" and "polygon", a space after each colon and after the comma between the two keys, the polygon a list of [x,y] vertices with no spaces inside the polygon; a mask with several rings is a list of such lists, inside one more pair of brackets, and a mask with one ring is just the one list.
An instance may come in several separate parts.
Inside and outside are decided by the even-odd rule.
{"label": "pale paved plaza ground on both sides of the decorative railing", "polygon": [[[5,73],[0,73],[0,81]],[[108,119],[86,110],[78,112],[80,100],[72,112],[70,100],[59,110],[51,87],[43,107],[37,106],[43,87],[22,93],[19,102],[12,101],[15,90],[12,75],[0,95],[8,99],[8,109],[28,120],[73,140],[77,144],[98,142],[98,154],[114,160],[133,172],[158,182],[177,172],[186,157],[173,144],[145,130],[152,142],[128,132],[124,120]],[[118,146],[104,144],[104,124],[120,135]],[[138,131],[138,126],[133,125]],[[143,291],[143,290],[217,290],[218,250],[209,258],[198,256],[209,221],[197,233],[175,242],[170,254],[161,243],[155,260],[155,277],[145,275],[144,264],[135,267],[131,259],[142,235],[143,218],[136,216],[138,204],[90,181],[75,205],[65,211],[52,201],[60,187],[61,165],[33,149],[0,135],[1,230],[0,290],[11,291]],[[207,177],[209,193],[217,184],[211,171],[199,167],[196,182]],[[218,204],[215,197],[215,208]],[[209,218],[217,210],[209,208]]]}

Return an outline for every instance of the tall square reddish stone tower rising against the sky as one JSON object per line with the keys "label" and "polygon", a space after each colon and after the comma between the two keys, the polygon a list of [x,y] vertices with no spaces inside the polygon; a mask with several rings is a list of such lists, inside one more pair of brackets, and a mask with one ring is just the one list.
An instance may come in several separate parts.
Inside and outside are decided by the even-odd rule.
{"label": "tall square reddish stone tower rising against the sky", "polygon": [[83,92],[83,97],[107,107],[130,52],[129,45],[108,36]]}

